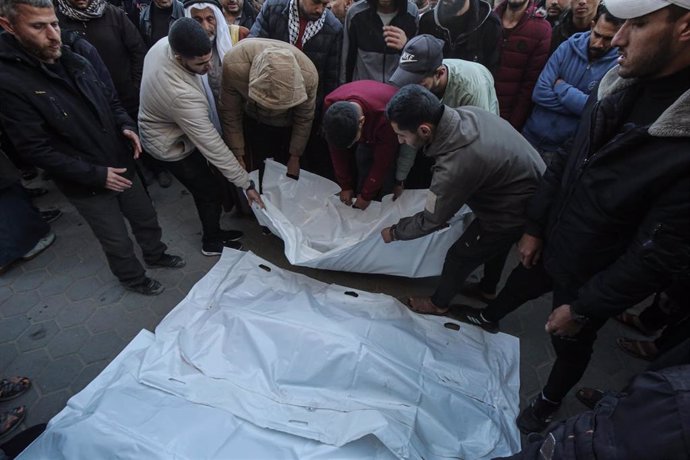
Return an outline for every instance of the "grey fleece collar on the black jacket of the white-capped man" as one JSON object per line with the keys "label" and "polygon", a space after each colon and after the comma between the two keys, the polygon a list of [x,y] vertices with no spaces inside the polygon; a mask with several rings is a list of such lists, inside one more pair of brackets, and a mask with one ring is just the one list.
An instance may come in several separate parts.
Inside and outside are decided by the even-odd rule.
{"label": "grey fleece collar on the black jacket of the white-capped man", "polygon": [[[618,67],[613,67],[601,79],[597,100],[625,91],[639,83],[637,78],[620,77]],[[650,125],[648,133],[654,137],[690,137],[690,89]]]}

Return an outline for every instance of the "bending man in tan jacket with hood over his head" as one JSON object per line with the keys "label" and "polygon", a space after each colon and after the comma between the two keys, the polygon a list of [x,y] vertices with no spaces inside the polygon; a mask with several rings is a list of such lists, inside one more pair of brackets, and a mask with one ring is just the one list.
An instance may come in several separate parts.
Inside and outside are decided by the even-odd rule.
{"label": "bending man in tan jacket with hood over his head", "polygon": [[314,64],[288,43],[252,38],[228,51],[220,118],[225,142],[242,166],[263,170],[263,161],[273,157],[287,164],[288,176],[299,176],[318,84]]}

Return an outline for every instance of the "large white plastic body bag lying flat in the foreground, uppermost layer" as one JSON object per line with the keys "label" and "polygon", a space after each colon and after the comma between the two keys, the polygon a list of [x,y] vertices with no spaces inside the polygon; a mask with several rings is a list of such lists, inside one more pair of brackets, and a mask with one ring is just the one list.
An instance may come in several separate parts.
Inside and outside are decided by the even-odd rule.
{"label": "large white plastic body bag lying flat in the foreground, uppermost layer", "polygon": [[399,458],[519,450],[517,339],[446,321],[226,250],[158,326],[139,380],[331,446],[373,435]]}

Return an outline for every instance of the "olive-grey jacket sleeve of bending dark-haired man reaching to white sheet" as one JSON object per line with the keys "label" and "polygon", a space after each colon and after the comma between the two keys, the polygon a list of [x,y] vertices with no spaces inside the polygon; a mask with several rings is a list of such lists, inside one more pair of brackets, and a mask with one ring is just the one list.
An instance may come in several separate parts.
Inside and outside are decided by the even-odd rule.
{"label": "olive-grey jacket sleeve of bending dark-haired man reaching to white sheet", "polygon": [[394,226],[395,238],[413,240],[446,226],[467,199],[481,186],[482,178],[474,168],[449,171],[437,161],[424,211],[405,217]]}

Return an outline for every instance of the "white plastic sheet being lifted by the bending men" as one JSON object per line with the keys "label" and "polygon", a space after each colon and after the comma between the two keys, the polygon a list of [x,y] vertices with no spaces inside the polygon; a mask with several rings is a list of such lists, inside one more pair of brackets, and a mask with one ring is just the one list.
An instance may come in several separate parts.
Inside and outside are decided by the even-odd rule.
{"label": "white plastic sheet being lifted by the bending men", "polygon": [[[285,256],[293,265],[411,278],[436,276],[448,248],[472,215],[465,206],[443,230],[385,244],[381,230],[423,210],[426,190],[406,190],[396,201],[388,195],[362,211],[341,203],[340,187],[328,179],[303,170],[295,181],[285,173],[282,164],[266,161],[261,188],[266,209],[253,211],[261,225],[285,242]],[[258,172],[252,174],[258,183]]]}

